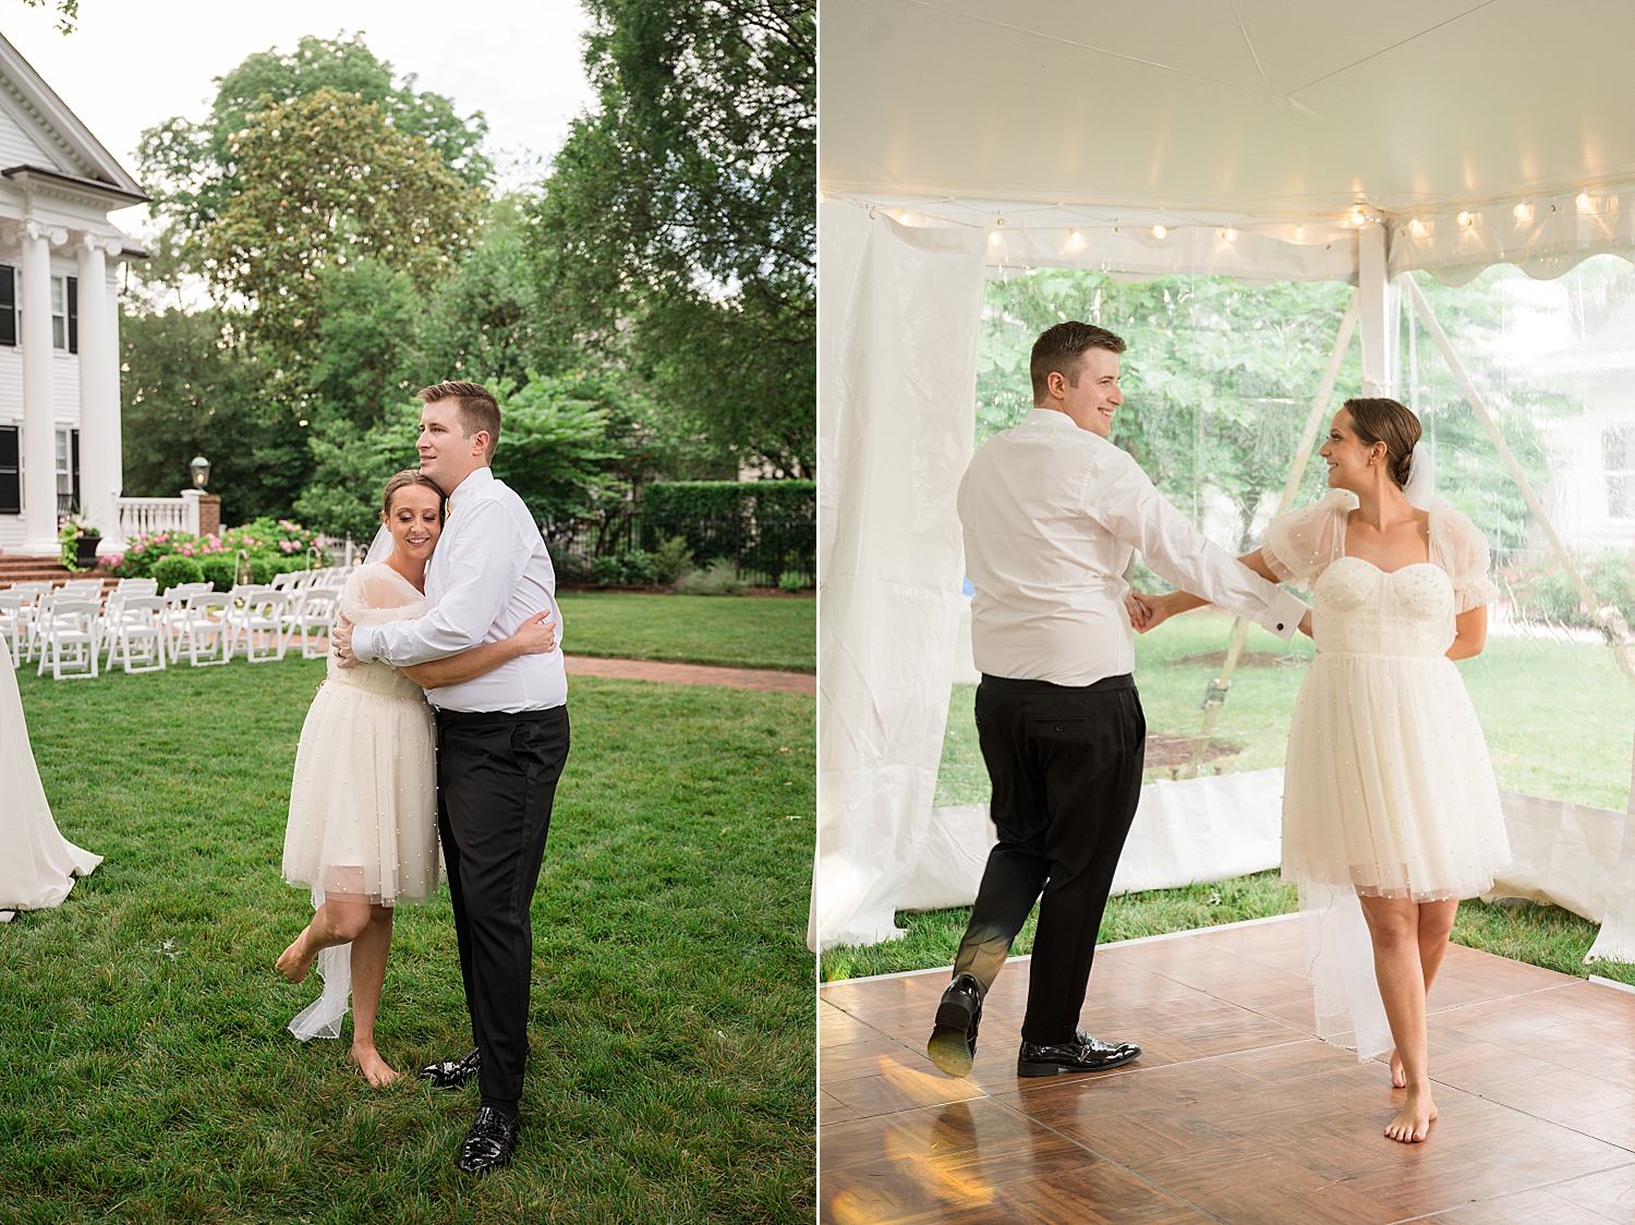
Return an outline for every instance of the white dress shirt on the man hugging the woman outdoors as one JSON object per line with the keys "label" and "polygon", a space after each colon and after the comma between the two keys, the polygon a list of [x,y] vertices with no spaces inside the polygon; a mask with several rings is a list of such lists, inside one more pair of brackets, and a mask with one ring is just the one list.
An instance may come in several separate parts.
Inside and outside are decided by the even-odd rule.
{"label": "white dress shirt on the man hugging the woman outdoors", "polygon": [[518,656],[476,680],[428,689],[425,695],[441,710],[517,713],[566,705],[556,571],[533,515],[489,468],[461,481],[448,505],[448,522],[425,568],[432,612],[414,621],[356,626],[352,653],[365,664],[425,664],[510,638],[525,620],[549,608],[554,651]]}

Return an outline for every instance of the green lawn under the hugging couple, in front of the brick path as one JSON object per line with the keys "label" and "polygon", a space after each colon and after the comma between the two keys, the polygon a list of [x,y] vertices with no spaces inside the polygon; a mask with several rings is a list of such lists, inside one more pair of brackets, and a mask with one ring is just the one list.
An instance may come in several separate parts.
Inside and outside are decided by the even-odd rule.
{"label": "green lawn under the hugging couple, in front of the brick path", "polygon": [[[0,927],[0,1220],[798,1222],[814,1210],[804,949],[813,700],[574,679],[533,904],[515,1166],[453,1161],[476,1089],[370,1089],[294,1042],[278,875],[322,664],[20,672],[62,832],[106,862]],[[378,1025],[469,1047],[446,891],[404,908]]]}

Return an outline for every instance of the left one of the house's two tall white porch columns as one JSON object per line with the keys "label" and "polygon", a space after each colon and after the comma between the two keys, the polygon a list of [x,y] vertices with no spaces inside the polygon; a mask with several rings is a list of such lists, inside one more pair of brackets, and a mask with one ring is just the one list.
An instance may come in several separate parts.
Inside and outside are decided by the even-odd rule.
{"label": "left one of the house's two tall white porch columns", "polygon": [[[52,411],[51,239],[38,221],[16,231],[23,247],[23,553],[57,551],[57,424]],[[64,236],[64,240],[67,236]]]}

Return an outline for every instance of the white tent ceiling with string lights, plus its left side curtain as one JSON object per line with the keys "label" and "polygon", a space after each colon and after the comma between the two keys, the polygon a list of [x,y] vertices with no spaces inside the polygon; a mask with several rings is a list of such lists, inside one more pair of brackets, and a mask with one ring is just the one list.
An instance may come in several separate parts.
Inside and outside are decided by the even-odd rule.
{"label": "white tent ceiling with string lights, plus its left side curtain", "polygon": [[814,947],[898,934],[937,837],[984,273],[1351,281],[1390,394],[1398,273],[1635,250],[1635,7],[826,0],[821,39]]}

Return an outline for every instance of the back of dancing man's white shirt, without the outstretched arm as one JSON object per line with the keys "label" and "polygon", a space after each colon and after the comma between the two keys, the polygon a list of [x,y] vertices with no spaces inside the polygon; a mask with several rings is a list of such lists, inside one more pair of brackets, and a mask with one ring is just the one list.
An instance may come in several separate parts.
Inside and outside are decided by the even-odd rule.
{"label": "back of dancing man's white shirt, without the outstretched arm", "polygon": [[1131,468],[1117,446],[1045,409],[971,456],[960,523],[981,672],[1087,685],[1130,671],[1120,577],[1130,546],[1089,512]]}

